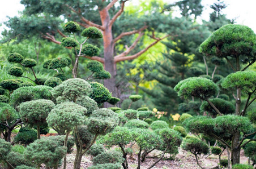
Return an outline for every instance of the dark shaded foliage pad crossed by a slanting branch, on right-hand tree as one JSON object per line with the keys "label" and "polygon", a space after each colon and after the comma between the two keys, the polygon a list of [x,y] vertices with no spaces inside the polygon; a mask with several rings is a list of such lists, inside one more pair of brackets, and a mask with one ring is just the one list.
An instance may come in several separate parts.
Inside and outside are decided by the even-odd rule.
{"label": "dark shaded foliage pad crossed by a slanting branch, on right-hand tree", "polygon": [[[233,114],[235,112],[235,109],[236,109],[235,106],[227,100],[214,98],[214,99],[210,99],[210,101],[212,102],[212,104],[216,106],[216,108],[220,111],[220,113]],[[201,112],[206,111],[208,113],[211,113],[214,116],[217,115],[215,110],[212,108],[210,104],[208,104],[207,101],[203,101],[202,105],[200,106],[200,111]]]}

